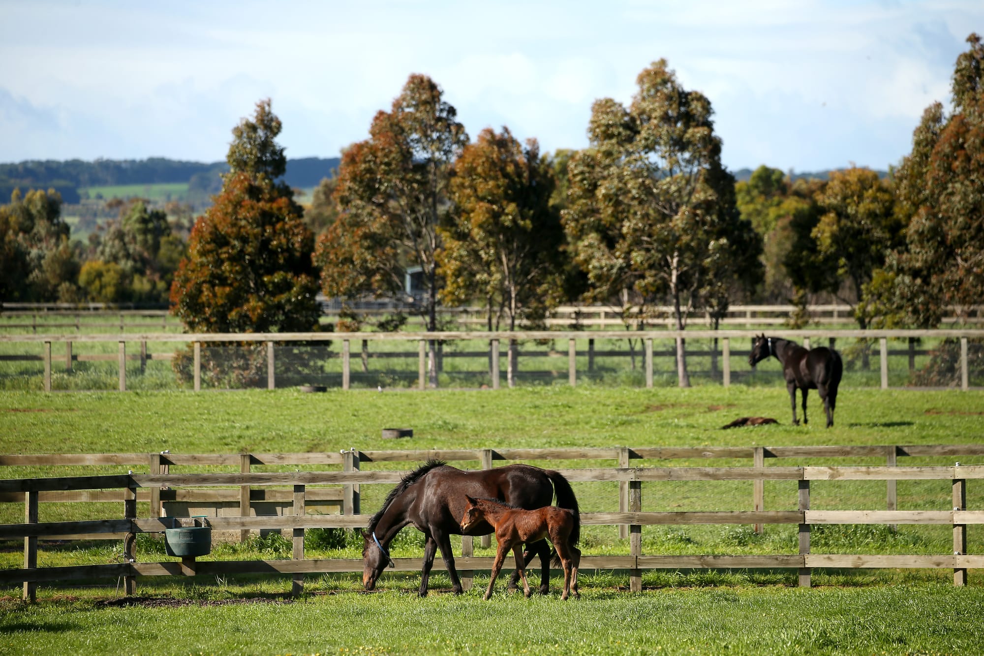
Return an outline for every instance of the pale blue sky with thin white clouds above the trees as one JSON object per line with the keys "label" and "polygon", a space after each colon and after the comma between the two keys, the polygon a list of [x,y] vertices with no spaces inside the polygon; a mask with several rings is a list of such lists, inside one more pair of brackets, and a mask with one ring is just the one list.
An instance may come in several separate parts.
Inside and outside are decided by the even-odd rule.
{"label": "pale blue sky with thin white clouds above the trees", "polygon": [[703,92],[732,169],[885,168],[947,101],[984,2],[0,0],[0,162],[216,161],[273,98],[288,157],[366,138],[411,73],[474,137],[583,148],[595,98],[665,57]]}

